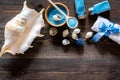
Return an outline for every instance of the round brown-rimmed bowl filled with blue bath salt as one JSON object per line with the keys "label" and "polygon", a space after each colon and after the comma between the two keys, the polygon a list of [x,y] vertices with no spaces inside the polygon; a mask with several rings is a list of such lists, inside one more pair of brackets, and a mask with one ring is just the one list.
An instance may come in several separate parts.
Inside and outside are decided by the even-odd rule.
{"label": "round brown-rimmed bowl filled with blue bath salt", "polygon": [[[68,8],[62,4],[62,3],[55,3],[66,15],[69,15],[69,10]],[[59,14],[62,18],[60,21],[55,21],[53,19],[53,16]],[[47,9],[45,10],[45,19],[46,21],[54,27],[61,27],[66,23],[66,18],[57,10],[55,9],[52,5],[48,6]]]}

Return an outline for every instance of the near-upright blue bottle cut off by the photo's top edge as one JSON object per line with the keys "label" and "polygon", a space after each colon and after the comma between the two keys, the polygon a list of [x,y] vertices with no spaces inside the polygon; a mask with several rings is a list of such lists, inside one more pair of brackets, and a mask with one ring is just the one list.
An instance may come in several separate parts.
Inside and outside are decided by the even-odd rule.
{"label": "near-upright blue bottle cut off by the photo's top edge", "polygon": [[76,13],[79,19],[85,18],[85,4],[84,0],[75,0]]}

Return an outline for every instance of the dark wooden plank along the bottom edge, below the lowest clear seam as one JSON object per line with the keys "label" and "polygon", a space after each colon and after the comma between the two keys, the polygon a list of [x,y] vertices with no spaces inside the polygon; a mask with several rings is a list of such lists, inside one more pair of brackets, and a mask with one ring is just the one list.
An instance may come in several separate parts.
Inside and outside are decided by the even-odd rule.
{"label": "dark wooden plank along the bottom edge, below the lowest clear seam", "polygon": [[120,79],[120,64],[109,59],[1,59],[0,79]]}

